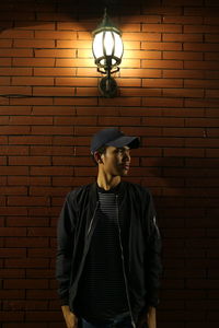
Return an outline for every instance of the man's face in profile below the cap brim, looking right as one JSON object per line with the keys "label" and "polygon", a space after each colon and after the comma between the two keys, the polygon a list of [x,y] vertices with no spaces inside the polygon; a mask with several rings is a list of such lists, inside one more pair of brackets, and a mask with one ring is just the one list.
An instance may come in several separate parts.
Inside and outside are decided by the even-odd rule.
{"label": "man's face in profile below the cap brim, looking right", "polygon": [[124,176],[128,174],[130,165],[130,150],[128,147],[107,147],[101,155],[103,169],[113,176]]}

